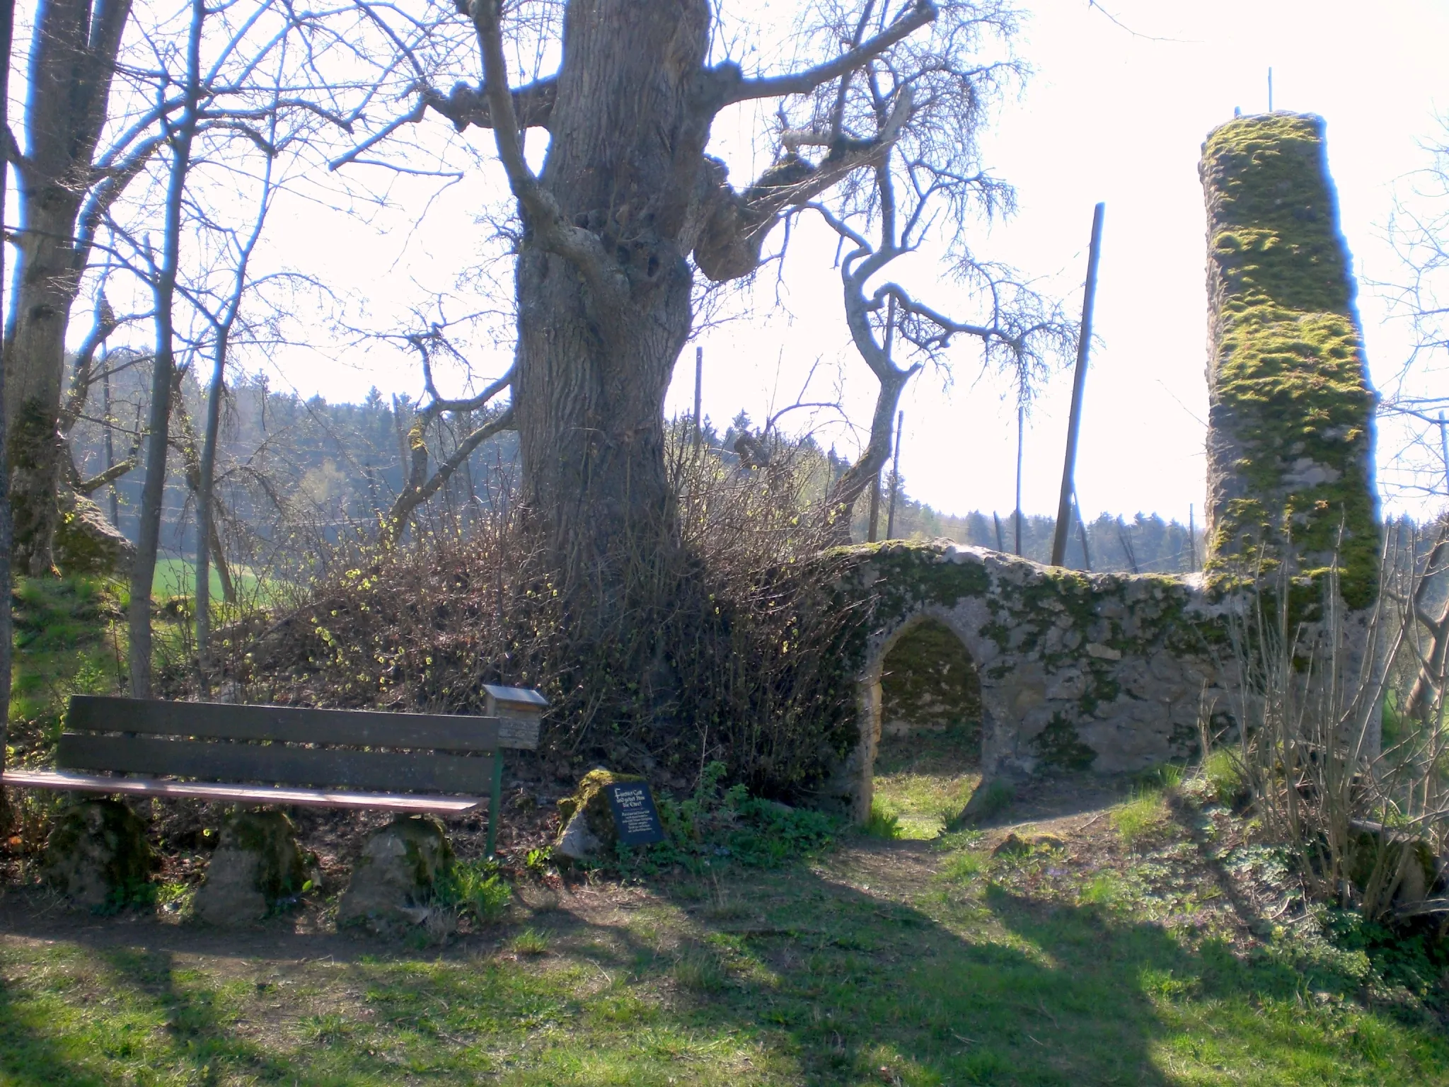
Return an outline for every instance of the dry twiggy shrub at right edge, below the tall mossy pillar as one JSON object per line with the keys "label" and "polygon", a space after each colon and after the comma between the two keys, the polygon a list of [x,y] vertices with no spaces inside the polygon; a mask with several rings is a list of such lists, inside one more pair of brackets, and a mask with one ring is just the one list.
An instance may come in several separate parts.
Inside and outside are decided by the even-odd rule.
{"label": "dry twiggy shrub at right edge, below the tall mossy pillar", "polygon": [[[1424,677],[1436,658],[1417,607],[1442,571],[1397,545],[1368,610],[1346,610],[1332,574],[1316,587],[1279,577],[1248,597],[1232,625],[1237,736],[1217,752],[1262,836],[1300,857],[1308,896],[1371,922],[1449,913],[1436,887],[1449,845],[1445,674],[1440,654]],[[1433,697],[1416,717],[1398,713],[1420,677]]]}

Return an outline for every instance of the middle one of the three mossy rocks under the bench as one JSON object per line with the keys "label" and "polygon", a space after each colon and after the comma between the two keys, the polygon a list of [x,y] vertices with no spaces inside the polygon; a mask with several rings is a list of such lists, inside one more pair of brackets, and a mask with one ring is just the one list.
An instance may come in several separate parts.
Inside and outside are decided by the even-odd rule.
{"label": "middle one of the three mossy rocks under the bench", "polygon": [[307,883],[307,857],[283,812],[236,812],[222,823],[196,916],[210,925],[258,922],[296,900]]}

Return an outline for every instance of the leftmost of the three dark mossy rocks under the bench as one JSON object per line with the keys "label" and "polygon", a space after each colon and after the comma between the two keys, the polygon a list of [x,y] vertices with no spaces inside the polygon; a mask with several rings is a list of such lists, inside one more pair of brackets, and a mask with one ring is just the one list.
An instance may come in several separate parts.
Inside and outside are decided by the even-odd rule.
{"label": "leftmost of the three dark mossy rocks under the bench", "polygon": [[91,909],[143,900],[156,865],[145,822],[120,800],[68,804],[45,845],[45,881]]}

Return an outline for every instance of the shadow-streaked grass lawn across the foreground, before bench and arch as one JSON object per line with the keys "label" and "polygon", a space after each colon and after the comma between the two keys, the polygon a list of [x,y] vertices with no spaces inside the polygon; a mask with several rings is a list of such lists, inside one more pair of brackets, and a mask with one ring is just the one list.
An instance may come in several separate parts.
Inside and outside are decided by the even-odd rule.
{"label": "shadow-streaked grass lawn across the foreground, before bench and arch", "polygon": [[[1256,854],[1210,859],[1219,813],[1135,803],[527,883],[507,920],[432,946],[12,890],[0,1083],[1449,1084],[1439,1020],[1361,954],[1246,930],[1224,874]],[[1030,845],[995,849],[1007,832]]]}

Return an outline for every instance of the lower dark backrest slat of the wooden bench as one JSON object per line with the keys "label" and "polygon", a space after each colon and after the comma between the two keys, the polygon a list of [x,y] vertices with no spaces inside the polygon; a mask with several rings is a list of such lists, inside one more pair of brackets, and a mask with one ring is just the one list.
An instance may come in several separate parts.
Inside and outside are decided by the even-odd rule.
{"label": "lower dark backrest slat of the wooden bench", "polygon": [[275,781],[288,786],[432,793],[487,791],[493,775],[493,758],[487,755],[207,744],[75,732],[61,735],[55,762],[64,770],[114,770],[226,783]]}

